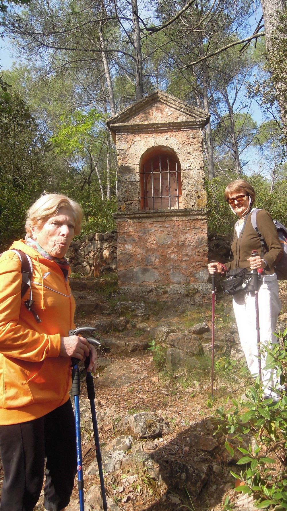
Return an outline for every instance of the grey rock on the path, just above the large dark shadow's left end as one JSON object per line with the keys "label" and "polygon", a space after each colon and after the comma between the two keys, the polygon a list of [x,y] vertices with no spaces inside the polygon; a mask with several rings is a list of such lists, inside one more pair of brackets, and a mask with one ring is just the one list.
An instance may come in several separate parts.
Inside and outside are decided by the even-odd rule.
{"label": "grey rock on the path, just above the large dark shadow's left end", "polygon": [[118,424],[119,431],[131,433],[136,438],[155,438],[170,431],[163,417],[152,412],[140,412],[124,417]]}

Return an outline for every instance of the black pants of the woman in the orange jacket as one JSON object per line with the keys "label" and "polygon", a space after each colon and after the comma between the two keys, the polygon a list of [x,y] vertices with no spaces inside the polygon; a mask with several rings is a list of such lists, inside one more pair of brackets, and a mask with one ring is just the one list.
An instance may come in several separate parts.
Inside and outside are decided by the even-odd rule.
{"label": "black pants of the woman in the orange jacket", "polygon": [[45,508],[70,501],[76,474],[75,421],[68,400],[40,419],[0,426],[4,481],[0,511],[33,511],[44,479]]}

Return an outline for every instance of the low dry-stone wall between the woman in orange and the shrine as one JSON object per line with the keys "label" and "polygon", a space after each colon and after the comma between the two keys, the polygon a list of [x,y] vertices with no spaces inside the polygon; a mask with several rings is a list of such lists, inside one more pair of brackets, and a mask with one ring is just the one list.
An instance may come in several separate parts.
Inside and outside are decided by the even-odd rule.
{"label": "low dry-stone wall between the woman in orange and the shrine", "polygon": [[117,269],[117,231],[96,233],[73,241],[67,252],[71,271],[94,277]]}

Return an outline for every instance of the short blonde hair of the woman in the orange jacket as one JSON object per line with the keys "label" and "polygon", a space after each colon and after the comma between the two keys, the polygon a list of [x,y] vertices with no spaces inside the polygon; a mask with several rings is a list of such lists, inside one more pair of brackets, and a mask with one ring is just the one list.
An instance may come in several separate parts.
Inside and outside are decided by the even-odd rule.
{"label": "short blonde hair of the woman in the orange jacket", "polygon": [[75,235],[80,234],[84,216],[80,204],[66,197],[66,195],[47,193],[41,195],[27,212],[25,223],[27,235],[25,238],[32,237],[32,228],[42,227],[50,217],[57,215],[62,207],[66,207],[71,211],[75,222],[74,233]]}

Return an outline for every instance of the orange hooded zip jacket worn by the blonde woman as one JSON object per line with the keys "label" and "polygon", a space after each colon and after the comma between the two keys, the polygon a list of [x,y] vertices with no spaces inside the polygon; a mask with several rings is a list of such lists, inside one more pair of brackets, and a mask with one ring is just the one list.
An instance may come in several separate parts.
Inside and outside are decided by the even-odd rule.
{"label": "orange hooded zip jacket worn by the blonde woman", "polygon": [[7,250],[0,257],[0,425],[37,419],[69,399],[71,359],[60,357],[61,336],[74,328],[74,299],[69,282],[55,261],[25,245],[30,255],[33,308],[37,323],[21,299],[21,263]]}

